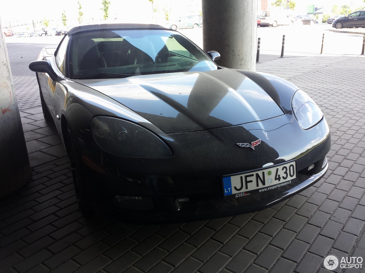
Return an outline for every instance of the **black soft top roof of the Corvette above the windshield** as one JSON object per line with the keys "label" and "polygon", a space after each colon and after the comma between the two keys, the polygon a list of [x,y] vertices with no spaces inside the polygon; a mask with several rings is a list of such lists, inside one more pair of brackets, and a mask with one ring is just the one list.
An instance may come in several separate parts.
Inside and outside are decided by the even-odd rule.
{"label": "black soft top roof of the Corvette above the windshield", "polygon": [[[169,29],[161,27],[161,25],[152,24],[95,24],[95,25],[80,25],[74,27],[67,32],[67,35],[74,35],[81,32],[91,32],[99,30],[116,30],[116,29]],[[169,29],[171,30],[171,29]]]}

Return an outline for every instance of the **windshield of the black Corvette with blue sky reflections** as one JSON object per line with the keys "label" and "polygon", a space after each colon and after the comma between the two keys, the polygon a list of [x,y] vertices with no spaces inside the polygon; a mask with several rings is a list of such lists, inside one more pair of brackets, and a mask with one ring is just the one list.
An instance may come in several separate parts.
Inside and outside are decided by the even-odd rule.
{"label": "windshield of the black Corvette with blue sky reflections", "polygon": [[210,71],[218,67],[180,33],[168,30],[115,30],[78,33],[69,47],[71,79]]}

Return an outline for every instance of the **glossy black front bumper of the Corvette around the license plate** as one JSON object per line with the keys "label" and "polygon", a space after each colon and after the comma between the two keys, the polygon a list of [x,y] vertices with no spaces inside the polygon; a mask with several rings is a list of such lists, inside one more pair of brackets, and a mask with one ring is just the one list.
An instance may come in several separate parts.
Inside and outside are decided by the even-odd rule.
{"label": "glossy black front bumper of the Corvette around the license plate", "polygon": [[[292,114],[241,126],[161,136],[175,151],[170,157],[120,157],[88,150],[95,147],[92,143],[81,145],[84,157],[100,168],[97,171],[89,164],[85,173],[89,194],[104,215],[134,222],[183,222],[265,209],[322,178],[331,143],[324,118],[313,128],[302,130]],[[235,144],[257,139],[261,144],[254,151]],[[298,177],[290,184],[265,192],[255,190],[239,198],[224,197],[223,175],[293,159]],[[312,164],[315,167],[307,171]]]}

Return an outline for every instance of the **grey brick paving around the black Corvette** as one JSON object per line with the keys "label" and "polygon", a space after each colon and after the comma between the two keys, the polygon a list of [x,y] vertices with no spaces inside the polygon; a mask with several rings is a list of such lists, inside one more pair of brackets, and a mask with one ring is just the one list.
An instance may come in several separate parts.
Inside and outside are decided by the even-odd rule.
{"label": "grey brick paving around the black Corvette", "polygon": [[145,226],[78,211],[68,157],[43,119],[37,80],[13,76],[32,177],[0,199],[0,272],[324,273],[327,254],[365,260],[365,58],[281,58],[257,71],[288,79],[324,112],[332,132],[326,176],[258,213]]}

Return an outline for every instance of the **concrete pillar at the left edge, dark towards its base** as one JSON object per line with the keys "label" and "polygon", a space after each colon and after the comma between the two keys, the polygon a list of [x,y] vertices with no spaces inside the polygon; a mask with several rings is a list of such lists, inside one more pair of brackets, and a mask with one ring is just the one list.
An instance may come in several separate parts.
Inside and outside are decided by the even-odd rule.
{"label": "concrete pillar at the left edge, dark towards its base", "polygon": [[[0,18],[0,28],[1,18]],[[31,176],[27,146],[16,102],[5,37],[0,37],[0,197],[23,186]]]}

